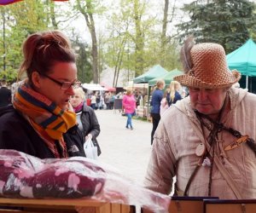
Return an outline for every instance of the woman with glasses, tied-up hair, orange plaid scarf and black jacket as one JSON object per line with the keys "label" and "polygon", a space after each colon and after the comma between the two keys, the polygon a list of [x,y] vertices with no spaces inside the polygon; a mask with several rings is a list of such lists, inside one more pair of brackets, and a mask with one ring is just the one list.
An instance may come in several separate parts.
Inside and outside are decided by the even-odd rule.
{"label": "woman with glasses, tied-up hair, orange plaid scarf and black jacket", "polygon": [[69,109],[77,80],[75,54],[58,31],[38,32],[23,44],[19,76],[27,79],[15,92],[13,107],[0,112],[0,148],[38,158],[85,156],[76,114]]}

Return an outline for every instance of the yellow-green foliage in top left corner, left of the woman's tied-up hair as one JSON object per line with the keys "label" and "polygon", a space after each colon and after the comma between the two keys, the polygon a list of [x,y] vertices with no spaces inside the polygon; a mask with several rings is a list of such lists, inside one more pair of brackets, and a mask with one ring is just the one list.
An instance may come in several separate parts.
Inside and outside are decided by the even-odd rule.
{"label": "yellow-green foliage in top left corner, left of the woman's tied-up hair", "polygon": [[[0,33],[0,76],[14,82],[22,60],[21,46],[24,39],[33,32],[49,29],[44,3],[26,0],[1,8],[2,20]],[[2,69],[3,67],[3,69]],[[2,71],[2,72],[1,72]]]}

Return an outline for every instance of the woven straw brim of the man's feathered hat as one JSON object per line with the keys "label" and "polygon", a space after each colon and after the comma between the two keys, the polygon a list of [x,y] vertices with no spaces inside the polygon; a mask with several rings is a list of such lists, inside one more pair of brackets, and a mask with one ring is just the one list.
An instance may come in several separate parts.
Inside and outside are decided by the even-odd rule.
{"label": "woven straw brim of the man's feathered hat", "polygon": [[227,88],[232,86],[234,83],[238,82],[241,78],[241,73],[237,70],[232,70],[228,79],[225,79],[222,83],[207,83],[203,82],[200,79],[195,78],[189,74],[184,74],[173,78],[175,81],[178,81],[183,86],[190,88],[204,88],[204,89],[218,89],[218,88]]}

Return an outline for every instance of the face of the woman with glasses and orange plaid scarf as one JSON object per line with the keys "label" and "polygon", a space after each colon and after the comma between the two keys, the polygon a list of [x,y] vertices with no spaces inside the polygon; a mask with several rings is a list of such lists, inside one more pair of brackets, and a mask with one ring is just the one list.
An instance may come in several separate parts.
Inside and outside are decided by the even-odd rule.
{"label": "face of the woman with glasses and orange plaid scarf", "polygon": [[63,110],[68,109],[68,103],[72,95],[74,95],[73,86],[68,89],[61,89],[60,83],[74,83],[77,80],[77,66],[73,62],[56,62],[52,70],[46,74],[49,78],[39,74],[36,88],[39,93],[45,95],[49,100],[53,101]]}

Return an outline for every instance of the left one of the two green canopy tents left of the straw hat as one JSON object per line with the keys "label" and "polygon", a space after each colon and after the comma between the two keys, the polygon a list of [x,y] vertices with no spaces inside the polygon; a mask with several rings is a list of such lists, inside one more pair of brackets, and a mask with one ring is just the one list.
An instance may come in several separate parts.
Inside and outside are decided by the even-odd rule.
{"label": "left one of the two green canopy tents left of the straw hat", "polygon": [[148,72],[143,73],[137,78],[133,79],[133,83],[148,83],[149,80],[166,74],[167,71],[160,65],[155,65],[148,70]]}

